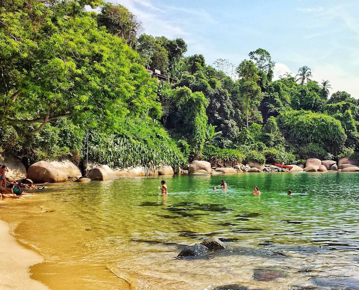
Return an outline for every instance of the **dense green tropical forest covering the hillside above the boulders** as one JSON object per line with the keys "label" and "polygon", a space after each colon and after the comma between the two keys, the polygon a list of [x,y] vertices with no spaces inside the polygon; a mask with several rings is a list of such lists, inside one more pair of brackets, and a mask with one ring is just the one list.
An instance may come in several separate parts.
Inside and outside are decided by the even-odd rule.
{"label": "dense green tropical forest covering the hillside above the boulders", "polygon": [[26,167],[70,160],[125,168],[359,159],[359,101],[330,80],[273,80],[253,48],[238,65],[187,55],[101,0],[0,2],[0,153]]}

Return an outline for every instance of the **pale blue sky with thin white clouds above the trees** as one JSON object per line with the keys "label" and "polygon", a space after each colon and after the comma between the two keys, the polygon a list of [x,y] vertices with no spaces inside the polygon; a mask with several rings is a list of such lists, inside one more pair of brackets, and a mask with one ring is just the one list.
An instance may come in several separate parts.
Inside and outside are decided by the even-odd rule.
{"label": "pale blue sky with thin white clouds above the trees", "polygon": [[308,66],[312,80],[328,80],[330,94],[359,99],[357,0],[107,0],[142,22],[141,33],[183,38],[187,55],[202,54],[237,67],[248,53],[267,50],[274,80]]}

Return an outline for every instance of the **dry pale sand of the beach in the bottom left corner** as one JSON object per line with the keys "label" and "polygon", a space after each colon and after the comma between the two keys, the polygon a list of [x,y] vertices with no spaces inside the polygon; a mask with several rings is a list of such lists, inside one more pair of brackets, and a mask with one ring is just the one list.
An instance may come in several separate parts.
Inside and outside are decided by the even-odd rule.
{"label": "dry pale sand of the beach in the bottom left corner", "polygon": [[18,242],[10,233],[8,224],[0,220],[0,288],[49,289],[30,278],[29,267],[43,262],[43,257]]}

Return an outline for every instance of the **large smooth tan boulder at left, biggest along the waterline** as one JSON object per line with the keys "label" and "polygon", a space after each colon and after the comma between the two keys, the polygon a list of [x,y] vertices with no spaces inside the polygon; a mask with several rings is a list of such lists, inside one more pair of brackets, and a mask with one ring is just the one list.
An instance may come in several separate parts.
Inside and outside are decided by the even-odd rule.
{"label": "large smooth tan boulder at left, biggest along the waterline", "polygon": [[34,183],[73,181],[82,176],[81,171],[70,161],[39,161],[32,164],[27,179]]}

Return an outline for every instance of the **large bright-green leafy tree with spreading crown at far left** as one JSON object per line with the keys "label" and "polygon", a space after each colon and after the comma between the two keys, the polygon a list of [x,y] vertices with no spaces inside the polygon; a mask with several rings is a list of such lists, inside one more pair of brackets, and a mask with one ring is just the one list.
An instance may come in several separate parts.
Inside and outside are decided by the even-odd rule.
{"label": "large bright-green leafy tree with spreading crown at far left", "polygon": [[25,7],[0,10],[0,119],[5,131],[16,131],[19,144],[46,149],[45,136],[56,131],[50,123],[64,117],[82,128],[159,117],[156,81],[138,54],[98,29],[79,2]]}

